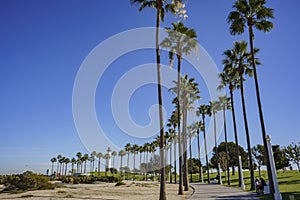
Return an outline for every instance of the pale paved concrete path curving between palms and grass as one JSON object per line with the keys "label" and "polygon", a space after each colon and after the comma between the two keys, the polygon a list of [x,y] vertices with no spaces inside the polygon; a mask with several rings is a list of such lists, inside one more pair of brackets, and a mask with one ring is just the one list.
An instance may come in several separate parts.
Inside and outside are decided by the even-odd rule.
{"label": "pale paved concrete path curving between palms and grass", "polygon": [[190,200],[194,199],[256,199],[255,193],[244,192],[237,188],[226,187],[214,184],[202,184],[202,183],[191,183],[194,188],[194,194],[191,196]]}

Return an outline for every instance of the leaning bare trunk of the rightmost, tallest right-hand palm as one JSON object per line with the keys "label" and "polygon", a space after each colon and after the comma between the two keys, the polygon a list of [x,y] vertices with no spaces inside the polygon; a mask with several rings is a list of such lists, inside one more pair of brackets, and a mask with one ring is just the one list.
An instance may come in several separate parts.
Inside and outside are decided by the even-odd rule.
{"label": "leaning bare trunk of the rightmost, tallest right-hand palm", "polygon": [[260,119],[261,131],[262,131],[262,138],[263,138],[263,143],[264,143],[264,154],[266,156],[268,180],[269,180],[269,184],[270,184],[270,193],[273,194],[274,193],[274,183],[273,183],[273,175],[272,175],[272,171],[271,171],[270,155],[269,155],[269,151],[268,151],[268,147],[267,147],[267,133],[266,133],[264,116],[263,116],[263,111],[262,111],[262,104],[261,104],[261,100],[260,100],[260,91],[259,91],[259,83],[258,83],[256,65],[255,65],[255,62],[254,62],[255,57],[254,57],[252,25],[249,26],[249,40],[250,40],[252,67],[253,67],[254,82],[255,82],[255,89],[256,89],[256,99],[257,99],[257,105],[258,105],[258,112],[259,112],[259,119]]}

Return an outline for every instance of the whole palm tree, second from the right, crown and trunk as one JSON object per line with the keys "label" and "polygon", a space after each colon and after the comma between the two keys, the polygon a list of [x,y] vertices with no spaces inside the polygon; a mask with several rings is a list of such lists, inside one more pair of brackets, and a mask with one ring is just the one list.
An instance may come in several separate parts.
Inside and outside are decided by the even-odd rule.
{"label": "whole palm tree, second from the right, crown and trunk", "polygon": [[[258,52],[258,49],[255,49],[255,52]],[[234,47],[232,49],[226,50],[224,52],[225,60],[230,60],[233,62],[233,65],[225,65],[224,70],[233,70],[235,73],[238,74],[238,81],[239,81],[239,88],[241,92],[241,100],[242,100],[242,109],[243,109],[243,118],[244,118],[244,125],[245,125],[245,132],[246,132],[246,139],[247,139],[247,147],[248,147],[248,157],[249,157],[249,168],[250,168],[250,179],[251,179],[251,190],[255,189],[255,182],[254,182],[254,168],[253,168],[253,161],[251,156],[251,142],[250,142],[250,133],[248,128],[248,119],[247,119],[247,112],[246,112],[246,102],[245,102],[245,95],[244,95],[244,74],[248,76],[252,76],[252,69],[250,68],[249,64],[249,56],[250,54],[247,52],[247,43],[245,41],[241,42],[234,42]],[[225,61],[223,61],[224,63]],[[258,60],[256,63],[259,64]],[[231,69],[231,67],[234,67]]]}

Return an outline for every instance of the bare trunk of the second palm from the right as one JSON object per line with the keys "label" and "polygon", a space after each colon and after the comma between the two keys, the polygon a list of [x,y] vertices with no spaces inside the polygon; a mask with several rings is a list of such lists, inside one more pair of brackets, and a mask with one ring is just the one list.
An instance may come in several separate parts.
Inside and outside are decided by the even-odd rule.
{"label": "bare trunk of the second palm from the right", "polygon": [[254,190],[255,189],[254,169],[253,169],[252,154],[251,154],[251,143],[250,143],[250,134],[249,134],[249,128],[248,128],[248,120],[247,120],[247,113],[246,113],[243,76],[240,76],[240,84],[241,84],[240,90],[241,90],[241,98],[242,98],[245,132],[246,132],[246,138],[247,138],[248,157],[249,157],[250,180],[251,180],[250,190]]}

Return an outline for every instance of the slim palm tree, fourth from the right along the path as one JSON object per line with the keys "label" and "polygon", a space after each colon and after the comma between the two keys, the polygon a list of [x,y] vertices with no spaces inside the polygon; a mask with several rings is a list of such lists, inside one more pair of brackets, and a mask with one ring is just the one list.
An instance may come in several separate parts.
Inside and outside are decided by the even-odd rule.
{"label": "slim palm tree, fourth from the right along the path", "polygon": [[[227,184],[230,185],[230,173],[229,173],[229,150],[227,141],[227,128],[226,128],[226,110],[231,109],[230,98],[225,96],[219,97],[220,107],[223,110],[223,121],[224,121],[224,135],[225,135],[225,151],[226,151],[226,169],[227,169]],[[218,154],[216,154],[218,156]]]}

